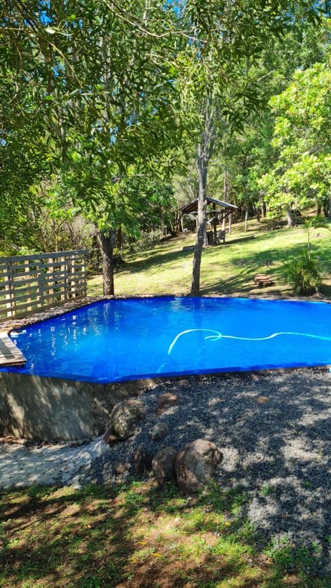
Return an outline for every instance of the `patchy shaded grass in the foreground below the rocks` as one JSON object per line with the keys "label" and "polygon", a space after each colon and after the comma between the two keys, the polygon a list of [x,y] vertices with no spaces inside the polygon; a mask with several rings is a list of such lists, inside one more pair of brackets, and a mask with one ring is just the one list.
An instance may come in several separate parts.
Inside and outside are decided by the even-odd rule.
{"label": "patchy shaded grass in the foreground below the rocks", "polygon": [[258,548],[246,505],[240,491],[188,499],[153,480],[3,491],[0,586],[330,588],[318,551]]}

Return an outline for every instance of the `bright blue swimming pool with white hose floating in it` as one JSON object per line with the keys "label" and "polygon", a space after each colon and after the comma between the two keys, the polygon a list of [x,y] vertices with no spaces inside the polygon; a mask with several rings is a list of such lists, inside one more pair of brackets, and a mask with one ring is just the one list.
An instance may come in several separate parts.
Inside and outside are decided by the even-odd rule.
{"label": "bright blue swimming pool with white hose floating in it", "polygon": [[28,358],[1,371],[111,383],[331,364],[331,305],[170,297],[92,303],[12,332]]}

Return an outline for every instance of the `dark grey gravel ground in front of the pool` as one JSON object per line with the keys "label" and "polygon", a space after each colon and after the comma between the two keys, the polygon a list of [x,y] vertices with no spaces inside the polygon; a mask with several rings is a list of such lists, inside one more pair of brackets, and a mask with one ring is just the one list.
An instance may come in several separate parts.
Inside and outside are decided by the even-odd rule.
{"label": "dark grey gravel ground in front of the pool", "polygon": [[[158,398],[165,392],[177,394],[179,404],[157,416]],[[192,440],[206,438],[223,453],[217,483],[223,489],[239,488],[246,493],[242,516],[257,531],[259,547],[270,541],[275,547],[304,545],[314,553],[317,571],[331,578],[328,369],[169,380],[144,390],[141,401],[146,418],[134,437],[106,452],[92,453],[87,462],[86,446],[85,462],[76,460],[76,469],[63,480],[66,484],[118,481],[131,473],[129,467],[117,474],[118,465],[130,464],[137,447],[154,455],[165,446],[180,449]],[[148,432],[160,420],[168,424],[169,434],[152,442]],[[94,440],[94,447],[95,443],[99,447],[100,441]],[[81,447],[74,449],[84,454]],[[66,450],[72,447],[61,449]],[[17,452],[15,456],[17,460]]]}

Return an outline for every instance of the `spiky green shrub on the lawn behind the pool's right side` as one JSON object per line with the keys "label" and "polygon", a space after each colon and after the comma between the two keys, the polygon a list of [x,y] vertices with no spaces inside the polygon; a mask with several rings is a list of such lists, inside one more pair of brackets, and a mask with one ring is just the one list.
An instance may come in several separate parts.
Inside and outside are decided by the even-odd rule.
{"label": "spiky green shrub on the lawn behind the pool's right side", "polygon": [[286,281],[293,286],[294,294],[312,294],[321,285],[319,261],[307,247],[297,257],[285,263],[284,270]]}

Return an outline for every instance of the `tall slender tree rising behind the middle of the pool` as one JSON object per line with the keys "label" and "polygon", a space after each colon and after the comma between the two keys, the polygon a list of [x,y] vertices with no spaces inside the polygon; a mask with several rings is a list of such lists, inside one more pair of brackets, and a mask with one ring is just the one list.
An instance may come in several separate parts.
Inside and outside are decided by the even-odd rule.
{"label": "tall slender tree rising behind the middle of the pool", "polygon": [[[232,131],[242,130],[248,113],[259,108],[259,79],[254,65],[263,43],[280,37],[292,26],[296,10],[300,17],[318,21],[317,6],[310,2],[283,3],[272,0],[211,1],[201,10],[198,2],[186,2],[183,19],[192,37],[188,43],[188,95],[197,119],[197,172],[199,179],[197,244],[194,250],[191,294],[200,287],[200,267],[205,241],[205,196],[208,168],[215,141],[224,121]],[[192,116],[194,120],[194,116]]]}

